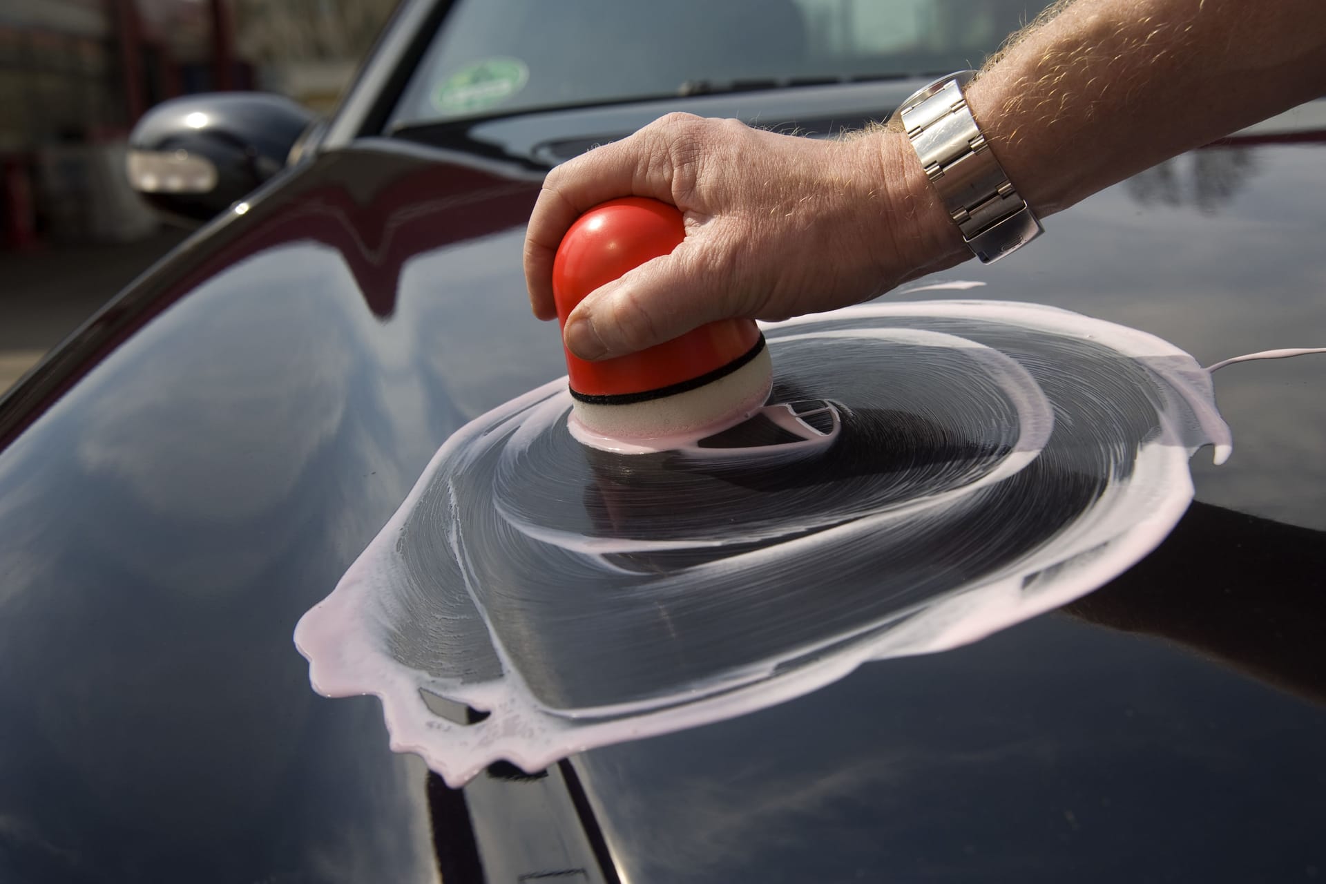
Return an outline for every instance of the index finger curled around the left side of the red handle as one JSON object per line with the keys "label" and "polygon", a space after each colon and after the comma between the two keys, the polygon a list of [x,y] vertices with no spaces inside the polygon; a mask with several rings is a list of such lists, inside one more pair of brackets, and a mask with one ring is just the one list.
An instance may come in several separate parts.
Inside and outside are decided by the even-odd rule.
{"label": "index finger curled around the left side of the red handle", "polygon": [[[675,121],[671,121],[675,122]],[[619,142],[595,147],[562,163],[544,179],[525,232],[525,285],[540,319],[557,315],[553,304],[553,258],[572,224],[587,209],[621,196],[651,196],[672,203],[671,164],[659,162],[667,144],[658,130],[663,118]]]}

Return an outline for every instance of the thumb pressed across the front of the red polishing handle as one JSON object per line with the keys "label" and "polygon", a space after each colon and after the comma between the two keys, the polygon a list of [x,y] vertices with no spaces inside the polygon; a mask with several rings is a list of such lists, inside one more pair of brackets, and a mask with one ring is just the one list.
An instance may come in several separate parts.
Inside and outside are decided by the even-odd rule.
{"label": "thumb pressed across the front of the red polishing handle", "polygon": [[609,359],[733,315],[728,274],[703,270],[697,256],[696,245],[682,243],[590,292],[566,317],[566,349],[581,359]]}

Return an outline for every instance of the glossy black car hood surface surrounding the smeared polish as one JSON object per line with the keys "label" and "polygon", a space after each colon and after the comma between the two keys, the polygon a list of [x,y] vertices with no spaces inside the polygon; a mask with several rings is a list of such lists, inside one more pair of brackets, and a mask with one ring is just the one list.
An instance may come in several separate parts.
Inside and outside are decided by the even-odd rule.
{"label": "glossy black car hood surface surrounding the smeared polish", "polygon": [[[1203,363],[1323,346],[1326,155],[1298,140],[1196,151],[945,278]],[[526,307],[524,168],[386,142],[321,155],[0,403],[0,876],[434,873],[426,771],[387,750],[377,701],[312,693],[290,632],[453,429],[564,372]],[[1199,455],[1204,505],[1102,608],[577,757],[621,880],[1326,869],[1311,685],[1183,640],[1237,623],[1302,648],[1319,630],[1323,378],[1314,358],[1217,375],[1235,457]],[[1138,598],[1183,628],[1151,628]],[[472,802],[480,840],[484,806],[514,819]]]}

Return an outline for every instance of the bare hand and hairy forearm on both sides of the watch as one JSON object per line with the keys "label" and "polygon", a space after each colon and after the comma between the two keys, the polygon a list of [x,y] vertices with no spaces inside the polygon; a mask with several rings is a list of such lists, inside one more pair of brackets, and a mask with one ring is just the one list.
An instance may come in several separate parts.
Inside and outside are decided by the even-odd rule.
{"label": "bare hand and hairy forearm on both sides of the watch", "polygon": [[[1075,0],[1021,33],[967,103],[1049,215],[1323,93],[1326,0]],[[678,114],[548,175],[525,240],[536,315],[557,315],[562,235],[626,195],[676,205],[687,235],[562,317],[585,359],[855,304],[971,257],[896,127],[826,142]]]}

